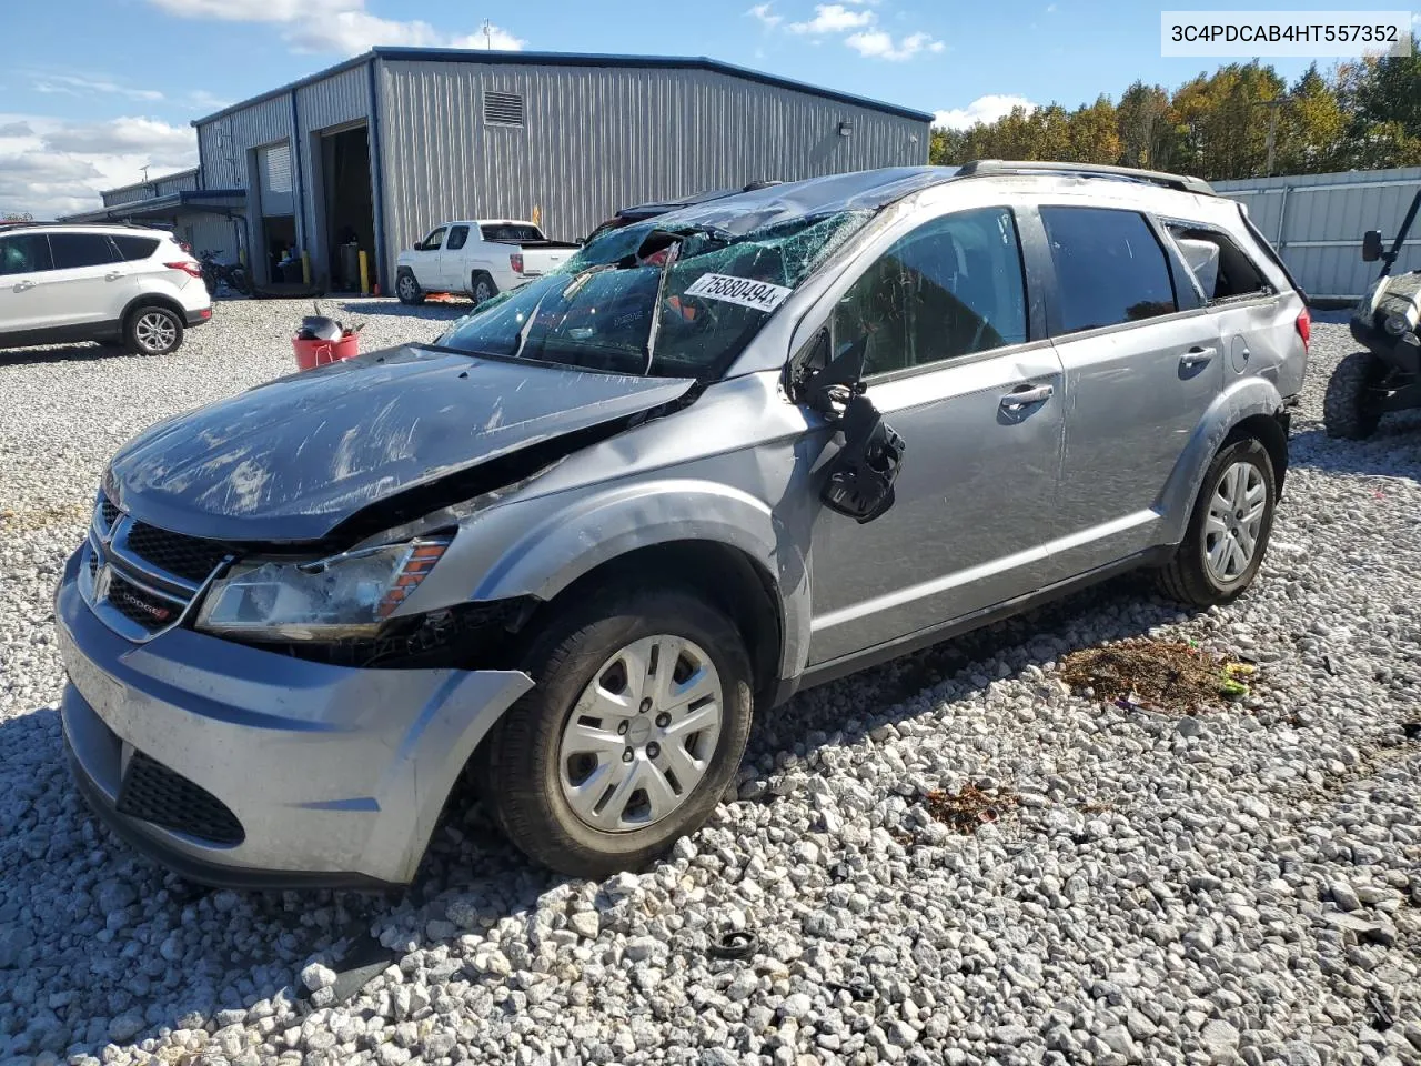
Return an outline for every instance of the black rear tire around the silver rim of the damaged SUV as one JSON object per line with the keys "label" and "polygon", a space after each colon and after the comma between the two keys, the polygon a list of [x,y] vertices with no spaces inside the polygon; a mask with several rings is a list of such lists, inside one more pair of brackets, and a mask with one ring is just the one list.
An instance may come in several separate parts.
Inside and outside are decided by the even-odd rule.
{"label": "black rear tire around the silver rim of the damaged SUV", "polygon": [[[1245,483],[1238,488],[1249,489],[1255,482],[1262,488],[1262,510],[1256,526],[1238,522],[1239,509],[1233,509],[1233,517],[1228,523],[1218,520],[1218,512],[1228,497],[1231,486],[1223,486],[1226,475],[1235,468],[1245,466]],[[1248,473],[1253,470],[1255,473]],[[1236,495],[1236,493],[1235,493]],[[1239,502],[1239,500],[1235,500]],[[1263,556],[1268,551],[1268,540],[1273,532],[1273,510],[1277,505],[1277,479],[1273,473],[1273,461],[1260,441],[1246,438],[1225,443],[1219,453],[1214,456],[1208,472],[1204,475],[1204,485],[1194,502],[1194,512],[1189,515],[1189,526],[1184,540],[1171,559],[1158,573],[1160,587],[1165,596],[1195,607],[1211,607],[1214,604],[1229,603],[1253,583]],[[1241,509],[1245,515],[1252,515],[1252,493]],[[1211,510],[1215,522],[1211,522]],[[1219,529],[1222,526],[1222,529]],[[1238,563],[1238,556],[1232,554],[1228,542],[1233,539],[1236,544],[1242,542],[1233,536],[1233,529],[1243,526],[1243,532],[1252,540],[1252,553],[1246,563],[1236,566],[1232,573],[1219,573],[1219,567],[1211,564],[1211,549],[1218,549],[1223,561]],[[1221,543],[1222,542],[1222,543]]]}

